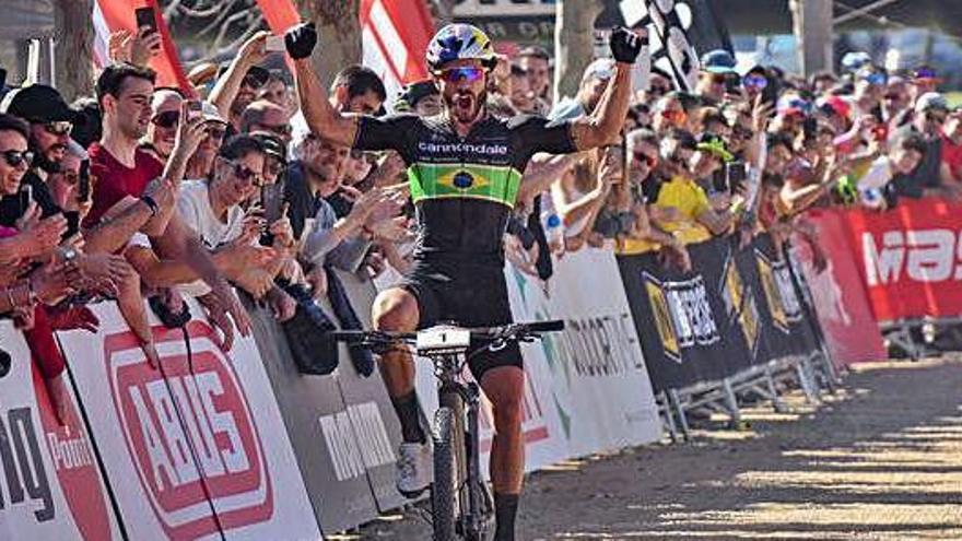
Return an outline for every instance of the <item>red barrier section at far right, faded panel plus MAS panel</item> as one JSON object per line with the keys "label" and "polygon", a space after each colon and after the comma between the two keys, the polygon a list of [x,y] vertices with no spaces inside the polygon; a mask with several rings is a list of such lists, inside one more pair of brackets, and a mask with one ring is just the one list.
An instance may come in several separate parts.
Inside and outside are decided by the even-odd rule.
{"label": "red barrier section at far right, faded panel plus MAS panel", "polygon": [[903,199],[884,212],[807,215],[831,263],[831,272],[811,281],[833,354],[845,362],[884,358],[880,330],[910,354],[922,354],[913,329],[959,321],[960,212],[960,202],[927,198]]}

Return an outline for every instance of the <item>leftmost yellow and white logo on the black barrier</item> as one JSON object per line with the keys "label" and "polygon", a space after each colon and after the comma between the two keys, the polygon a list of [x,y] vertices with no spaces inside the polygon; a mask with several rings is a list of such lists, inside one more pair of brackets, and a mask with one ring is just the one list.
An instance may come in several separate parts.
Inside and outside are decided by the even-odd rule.
{"label": "leftmost yellow and white logo on the black barrier", "polygon": [[681,362],[681,350],[722,340],[701,275],[683,282],[659,282],[645,273],[645,287],[666,355]]}

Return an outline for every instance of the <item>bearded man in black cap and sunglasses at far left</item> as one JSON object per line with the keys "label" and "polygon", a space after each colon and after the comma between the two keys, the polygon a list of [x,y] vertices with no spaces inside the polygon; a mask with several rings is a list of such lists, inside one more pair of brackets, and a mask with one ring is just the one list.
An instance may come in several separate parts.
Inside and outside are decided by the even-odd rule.
{"label": "bearded man in black cap and sunglasses at far left", "polygon": [[[23,177],[22,186],[30,186],[43,216],[61,212],[50,197],[46,179],[58,169],[60,161],[67,154],[77,114],[59,92],[43,84],[11,92],[0,109],[28,121],[31,126],[30,148],[34,161]],[[4,197],[0,201],[0,225],[12,226],[25,210],[17,196]]]}

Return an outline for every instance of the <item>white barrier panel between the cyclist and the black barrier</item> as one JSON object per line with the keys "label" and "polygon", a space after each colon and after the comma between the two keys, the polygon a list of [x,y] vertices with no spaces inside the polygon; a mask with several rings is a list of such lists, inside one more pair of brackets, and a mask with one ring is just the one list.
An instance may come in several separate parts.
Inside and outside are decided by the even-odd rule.
{"label": "white barrier panel between the cyclist and the black barrier", "polygon": [[661,425],[627,297],[610,250],[583,249],[555,261],[548,291],[506,270],[516,321],[564,319],[562,333],[525,350],[543,367],[541,403],[561,419],[570,456],[655,442]]}

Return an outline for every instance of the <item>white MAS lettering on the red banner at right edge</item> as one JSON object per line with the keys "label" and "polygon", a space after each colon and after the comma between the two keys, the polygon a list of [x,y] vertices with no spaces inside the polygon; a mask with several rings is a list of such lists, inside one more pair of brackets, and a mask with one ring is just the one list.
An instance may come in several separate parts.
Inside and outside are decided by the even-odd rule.
{"label": "white MAS lettering on the red banner at right edge", "polygon": [[861,249],[869,286],[903,280],[946,282],[962,280],[962,236],[952,230],[889,231],[881,246],[863,233]]}

